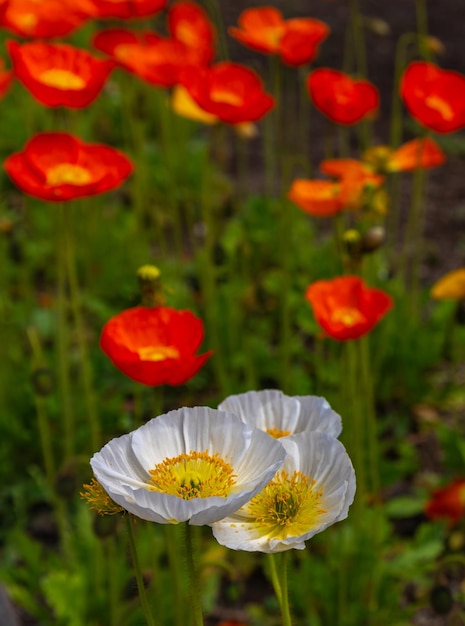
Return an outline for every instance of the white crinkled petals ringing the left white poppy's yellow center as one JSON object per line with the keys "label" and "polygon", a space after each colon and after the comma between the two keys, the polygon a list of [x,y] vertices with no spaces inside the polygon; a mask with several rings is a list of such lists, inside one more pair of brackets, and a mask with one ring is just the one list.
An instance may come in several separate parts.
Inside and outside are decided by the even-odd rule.
{"label": "white crinkled petals ringing the left white poppy's yellow center", "polygon": [[[166,459],[206,452],[231,465],[235,485],[227,497],[185,500],[150,488],[150,470]],[[257,494],[282,466],[279,441],[237,416],[207,407],[179,409],[107,443],[91,459],[110,497],[134,515],[158,523],[212,524]]]}

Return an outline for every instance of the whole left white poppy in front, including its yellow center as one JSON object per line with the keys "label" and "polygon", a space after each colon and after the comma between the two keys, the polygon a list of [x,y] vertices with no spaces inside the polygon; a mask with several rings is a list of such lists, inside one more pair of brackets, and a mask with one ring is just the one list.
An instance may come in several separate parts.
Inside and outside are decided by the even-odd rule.
{"label": "whole left white poppy in front, including its yellow center", "polygon": [[279,441],[235,415],[195,407],[112,439],[90,464],[108,495],[134,515],[200,526],[237,511],[285,456]]}

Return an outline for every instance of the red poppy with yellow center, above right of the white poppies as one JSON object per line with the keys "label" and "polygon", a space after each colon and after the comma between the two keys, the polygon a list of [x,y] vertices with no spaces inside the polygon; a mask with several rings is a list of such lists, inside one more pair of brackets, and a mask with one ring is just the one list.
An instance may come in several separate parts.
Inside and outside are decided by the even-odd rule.
{"label": "red poppy with yellow center, above right of the white poppies", "polygon": [[305,297],[318,324],[338,341],[366,335],[392,307],[387,293],[367,287],[358,276],[317,281]]}

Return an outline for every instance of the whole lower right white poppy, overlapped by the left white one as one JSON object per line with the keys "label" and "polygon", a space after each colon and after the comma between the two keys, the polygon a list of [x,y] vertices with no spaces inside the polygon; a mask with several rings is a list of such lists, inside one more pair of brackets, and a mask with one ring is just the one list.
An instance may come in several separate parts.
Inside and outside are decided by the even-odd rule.
{"label": "whole lower right white poppy, overlapped by the left white one", "polygon": [[233,550],[303,550],[305,541],[345,519],[355,472],[340,441],[307,432],[281,439],[282,469],[233,515],[212,524],[215,539]]}

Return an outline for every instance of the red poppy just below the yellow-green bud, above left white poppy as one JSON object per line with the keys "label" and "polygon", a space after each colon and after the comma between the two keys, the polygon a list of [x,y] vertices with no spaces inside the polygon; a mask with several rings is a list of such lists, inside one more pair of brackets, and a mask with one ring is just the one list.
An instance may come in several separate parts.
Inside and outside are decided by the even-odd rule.
{"label": "red poppy just below the yellow-green bud, above left white poppy", "polygon": [[123,374],[144,385],[182,385],[212,355],[196,355],[202,321],[190,311],[135,307],[109,320],[100,347]]}

